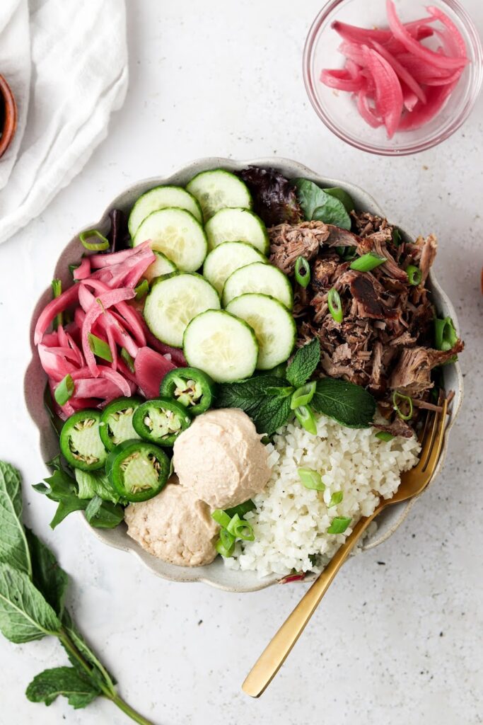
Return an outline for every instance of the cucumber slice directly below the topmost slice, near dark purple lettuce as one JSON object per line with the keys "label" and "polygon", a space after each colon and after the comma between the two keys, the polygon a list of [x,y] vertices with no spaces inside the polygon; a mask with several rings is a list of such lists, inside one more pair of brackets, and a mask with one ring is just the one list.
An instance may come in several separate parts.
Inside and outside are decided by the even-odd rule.
{"label": "cucumber slice directly below the topmost slice, near dark purple lettuce", "polygon": [[248,209],[222,209],[206,222],[209,249],[224,241],[245,241],[262,254],[269,252],[269,238],[262,220]]}

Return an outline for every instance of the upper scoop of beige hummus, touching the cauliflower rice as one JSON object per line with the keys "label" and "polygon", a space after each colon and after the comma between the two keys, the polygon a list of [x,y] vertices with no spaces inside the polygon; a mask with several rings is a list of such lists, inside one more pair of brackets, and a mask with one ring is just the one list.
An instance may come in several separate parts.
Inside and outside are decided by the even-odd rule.
{"label": "upper scoop of beige hummus, touching the cauliflower rice", "polygon": [[231,508],[260,493],[272,469],[269,453],[243,410],[198,415],[177,437],[173,463],[180,484],[211,508]]}

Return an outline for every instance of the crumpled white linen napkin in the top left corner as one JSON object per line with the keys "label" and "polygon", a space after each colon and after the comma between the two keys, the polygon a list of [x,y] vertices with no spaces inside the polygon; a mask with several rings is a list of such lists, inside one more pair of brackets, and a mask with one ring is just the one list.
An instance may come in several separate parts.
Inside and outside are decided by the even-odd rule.
{"label": "crumpled white linen napkin in the top left corner", "polygon": [[19,117],[0,159],[1,243],[80,172],[122,106],[124,0],[0,0],[0,73]]}

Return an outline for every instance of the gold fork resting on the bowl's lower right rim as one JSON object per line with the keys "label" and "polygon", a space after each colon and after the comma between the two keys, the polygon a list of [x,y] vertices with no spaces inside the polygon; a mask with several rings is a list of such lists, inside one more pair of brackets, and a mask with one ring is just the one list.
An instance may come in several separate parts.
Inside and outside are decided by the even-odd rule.
{"label": "gold fork resting on the bowl's lower right rim", "polygon": [[301,636],[308,620],[314,614],[325,592],[327,592],[330,584],[332,584],[337,571],[339,571],[340,567],[348,558],[348,555],[356,546],[358,539],[366,531],[369,523],[387,506],[393,503],[407,501],[413,498],[413,496],[421,494],[429,484],[429,481],[431,481],[440,457],[442,441],[445,434],[446,413],[448,410],[447,400],[443,400],[440,397],[438,403],[441,410],[434,414],[432,423],[429,423],[429,418],[431,417],[429,413],[426,418],[426,424],[421,436],[421,453],[418,464],[414,468],[411,468],[411,471],[406,471],[402,474],[398,491],[391,499],[379,502],[379,505],[372,515],[361,518],[356,523],[350,536],[345,540],[340,549],[337,550],[319,578],[314,581],[311,588],[303,595],[301,601],[298,602],[298,605],[290,616],[287,617],[259,659],[256,660],[256,663],[251,668],[242,685],[242,689],[247,695],[260,697],[266,687],[272,682],[272,679],[290,654],[293,645],[295,645],[295,642]]}

